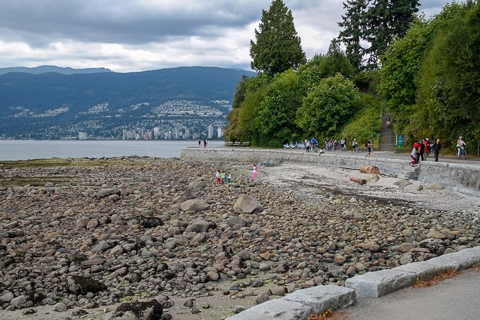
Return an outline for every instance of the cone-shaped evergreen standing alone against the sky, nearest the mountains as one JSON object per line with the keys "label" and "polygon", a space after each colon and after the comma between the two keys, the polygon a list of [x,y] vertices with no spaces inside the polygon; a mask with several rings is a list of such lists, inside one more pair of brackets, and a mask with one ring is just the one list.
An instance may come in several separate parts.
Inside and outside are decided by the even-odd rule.
{"label": "cone-shaped evergreen standing alone against the sky, nearest the mountains", "polygon": [[250,40],[250,66],[253,70],[273,77],[307,62],[291,10],[282,0],[274,0],[268,11],[262,10],[255,38],[256,42]]}

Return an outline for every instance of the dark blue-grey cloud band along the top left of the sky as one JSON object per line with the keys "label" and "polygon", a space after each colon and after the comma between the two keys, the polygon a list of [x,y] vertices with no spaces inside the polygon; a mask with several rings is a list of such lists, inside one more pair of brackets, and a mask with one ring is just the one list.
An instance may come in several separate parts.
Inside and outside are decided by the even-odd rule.
{"label": "dark blue-grey cloud band along the top left of the sky", "polygon": [[[2,4],[1,28],[17,39],[40,45],[71,39],[138,45],[181,36],[217,37],[259,19],[267,1],[184,1],[173,8],[141,1],[16,0]],[[155,2],[152,2],[155,3]],[[200,4],[198,4],[200,3]],[[269,2],[268,2],[269,3]]]}

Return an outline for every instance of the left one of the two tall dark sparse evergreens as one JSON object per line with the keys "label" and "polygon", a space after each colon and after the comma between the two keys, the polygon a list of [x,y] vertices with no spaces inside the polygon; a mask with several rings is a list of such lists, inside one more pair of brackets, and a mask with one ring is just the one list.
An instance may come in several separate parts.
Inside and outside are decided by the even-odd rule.
{"label": "left one of the two tall dark sparse evergreens", "polygon": [[360,70],[365,49],[361,46],[365,32],[365,10],[367,0],[347,0],[344,2],[346,14],[341,16],[338,23],[343,28],[338,36],[344,43],[346,56],[355,69]]}

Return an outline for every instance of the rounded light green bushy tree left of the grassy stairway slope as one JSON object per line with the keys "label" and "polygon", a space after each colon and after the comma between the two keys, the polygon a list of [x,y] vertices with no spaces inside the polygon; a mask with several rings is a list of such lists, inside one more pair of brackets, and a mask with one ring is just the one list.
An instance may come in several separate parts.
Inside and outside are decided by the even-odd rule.
{"label": "rounded light green bushy tree left of the grassy stairway slope", "polygon": [[359,93],[350,79],[337,74],[322,79],[298,108],[296,123],[307,136],[331,136],[355,112]]}

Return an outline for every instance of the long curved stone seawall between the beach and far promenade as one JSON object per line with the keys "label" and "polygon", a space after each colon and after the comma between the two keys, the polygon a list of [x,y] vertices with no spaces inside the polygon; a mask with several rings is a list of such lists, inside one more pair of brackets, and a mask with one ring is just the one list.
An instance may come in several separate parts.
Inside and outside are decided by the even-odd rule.
{"label": "long curved stone seawall between the beach and far promenade", "polygon": [[322,167],[359,169],[373,165],[380,170],[393,173],[402,179],[418,179],[426,183],[439,183],[450,190],[480,196],[480,166],[448,162],[422,162],[411,168],[406,160],[394,158],[365,158],[352,153],[307,153],[283,149],[182,148],[182,160],[200,162],[236,162],[252,164],[263,161],[300,162]]}

